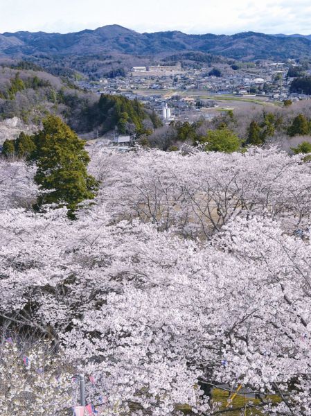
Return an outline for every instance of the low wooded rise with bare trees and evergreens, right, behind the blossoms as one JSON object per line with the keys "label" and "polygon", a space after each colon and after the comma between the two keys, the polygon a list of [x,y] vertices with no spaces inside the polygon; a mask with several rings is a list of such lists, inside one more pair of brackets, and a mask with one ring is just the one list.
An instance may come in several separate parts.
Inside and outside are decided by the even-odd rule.
{"label": "low wooded rise with bare trees and evergreens, right, behind the blossoms", "polygon": [[277,144],[292,153],[303,141],[311,143],[310,111],[309,101],[292,103],[290,100],[283,107],[229,110],[212,120],[201,117],[193,123],[175,121],[163,125],[141,138],[140,143],[165,151],[190,145],[224,153]]}

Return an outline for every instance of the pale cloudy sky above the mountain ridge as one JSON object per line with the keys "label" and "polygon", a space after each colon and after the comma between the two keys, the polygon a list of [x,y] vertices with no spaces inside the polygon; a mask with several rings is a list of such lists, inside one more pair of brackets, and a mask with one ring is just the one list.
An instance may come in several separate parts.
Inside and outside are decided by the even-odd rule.
{"label": "pale cloudy sky above the mountain ridge", "polygon": [[120,24],[138,32],[310,35],[310,22],[310,0],[0,0],[0,33]]}

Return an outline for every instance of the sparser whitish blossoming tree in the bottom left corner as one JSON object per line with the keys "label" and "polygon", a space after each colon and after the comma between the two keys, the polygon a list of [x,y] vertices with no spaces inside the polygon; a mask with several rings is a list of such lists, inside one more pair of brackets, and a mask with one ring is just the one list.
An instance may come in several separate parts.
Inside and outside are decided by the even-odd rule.
{"label": "sparser whitish blossoming tree in the bottom left corner", "polygon": [[[28,345],[27,345],[28,344]],[[42,341],[8,338],[0,346],[0,408],[3,415],[67,415],[75,406],[72,369]]]}

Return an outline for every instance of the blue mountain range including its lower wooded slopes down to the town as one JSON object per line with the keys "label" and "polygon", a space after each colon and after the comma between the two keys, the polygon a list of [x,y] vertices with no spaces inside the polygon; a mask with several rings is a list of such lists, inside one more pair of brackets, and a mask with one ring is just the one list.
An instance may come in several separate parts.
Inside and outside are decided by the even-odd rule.
{"label": "blue mountain range including its lower wooded slopes down to the town", "polygon": [[126,73],[133,66],[157,62],[226,62],[233,60],[309,60],[308,37],[265,35],[186,35],[178,31],[137,33],[118,25],[78,33],[4,33],[0,59],[31,61],[55,76],[71,80]]}

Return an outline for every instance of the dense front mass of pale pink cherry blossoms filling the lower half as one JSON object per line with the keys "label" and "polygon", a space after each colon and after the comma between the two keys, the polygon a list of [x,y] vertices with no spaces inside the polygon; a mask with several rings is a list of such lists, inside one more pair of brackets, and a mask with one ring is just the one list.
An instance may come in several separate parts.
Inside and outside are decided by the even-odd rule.
{"label": "dense front mass of pale pink cherry blossoms filling the lower half", "polygon": [[210,415],[201,380],[276,392],[308,414],[308,241],[255,217],[201,245],[141,223],[109,225],[98,207],[74,223],[62,211],[13,210],[2,230],[7,329],[57,340],[94,375],[95,402],[159,415],[188,404]]}

